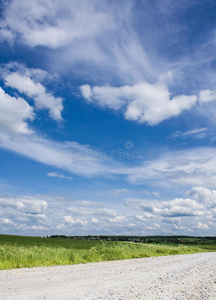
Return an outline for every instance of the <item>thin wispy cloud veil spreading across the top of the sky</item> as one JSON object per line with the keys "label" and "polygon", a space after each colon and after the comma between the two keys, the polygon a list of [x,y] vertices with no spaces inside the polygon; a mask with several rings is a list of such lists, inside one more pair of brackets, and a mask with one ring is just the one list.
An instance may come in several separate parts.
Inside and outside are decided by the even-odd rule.
{"label": "thin wispy cloud veil spreading across the top of the sky", "polygon": [[[180,60],[173,61],[173,53],[170,61],[167,61],[167,53],[161,52],[163,47],[160,45],[164,45],[165,40],[168,41],[168,45],[179,45],[176,37],[180,35],[175,34],[182,33],[178,13],[175,12],[175,18],[171,6],[163,3],[163,7],[168,7],[167,11],[172,15],[171,18],[167,18],[167,15],[164,17],[161,5],[157,5],[154,9],[156,16],[162,14],[167,23],[164,23],[162,30],[154,30],[154,18],[148,16],[149,4],[143,4],[145,25],[142,29],[137,29],[137,10],[134,3],[127,1],[122,6],[118,1],[34,0],[27,3],[25,0],[12,0],[3,5],[0,36],[3,41],[11,43],[52,48],[55,51],[50,52],[49,57],[52,56],[54,68],[58,65],[61,69],[62,64],[70,64],[76,68],[71,68],[70,72],[78,70],[85,73],[89,65],[94,64],[92,71],[97,79],[102,81],[110,75],[115,75],[130,84],[147,78],[155,80],[158,77],[164,82],[169,81],[167,78],[171,77],[172,73],[175,77],[176,73],[179,75],[182,70],[183,74],[175,78],[179,85],[189,85],[200,76],[207,81],[209,78],[203,76],[204,72],[196,72],[196,76],[194,74],[197,71],[196,65],[200,68],[204,61],[209,62],[213,59],[212,50],[209,51],[211,55],[206,55],[206,48],[212,49],[212,41],[208,41],[204,46],[202,44],[200,47],[192,47],[190,55],[181,47],[182,51],[177,51],[181,64]],[[176,19],[175,24],[173,19]],[[152,34],[149,28],[153,28],[155,34]],[[171,33],[174,35],[170,35]],[[185,33],[186,30],[183,34]],[[167,49],[166,46],[164,49]],[[77,62],[84,61],[88,61],[88,65],[83,67],[85,70],[81,70]],[[98,72],[98,68],[102,72]],[[189,68],[191,70],[187,72]],[[114,82],[115,76],[112,78]],[[211,80],[214,81],[214,76]]]}

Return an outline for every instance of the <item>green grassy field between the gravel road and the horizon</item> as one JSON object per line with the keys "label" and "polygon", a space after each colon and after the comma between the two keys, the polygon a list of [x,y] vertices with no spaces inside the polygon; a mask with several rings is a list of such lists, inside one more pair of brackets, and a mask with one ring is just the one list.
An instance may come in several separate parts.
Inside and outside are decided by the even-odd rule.
{"label": "green grassy field between the gravel road and the horizon", "polygon": [[216,251],[215,244],[141,244],[0,235],[0,269]]}

